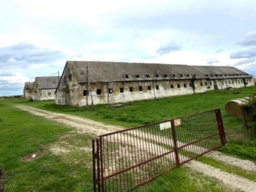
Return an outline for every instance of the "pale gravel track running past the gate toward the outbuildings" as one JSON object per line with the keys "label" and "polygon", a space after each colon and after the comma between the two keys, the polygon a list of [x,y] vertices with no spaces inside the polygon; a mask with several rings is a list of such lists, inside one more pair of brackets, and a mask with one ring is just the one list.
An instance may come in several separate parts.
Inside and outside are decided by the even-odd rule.
{"label": "pale gravel track running past the gate toward the outbuildings", "polygon": [[[90,134],[95,134],[99,136],[100,134],[106,134],[108,132],[120,131],[125,129],[124,127],[103,124],[101,122],[95,122],[86,118],[81,118],[73,115],[66,115],[61,113],[54,113],[50,111],[45,111],[42,109],[32,108],[29,106],[17,105],[15,106],[18,109],[23,111],[28,111],[33,113],[36,116],[42,116],[49,120],[54,120],[60,124],[65,124],[70,127],[75,127],[81,132],[86,132]],[[232,166],[237,166],[245,171],[255,172],[256,173],[256,164],[252,161],[238,159],[236,157],[227,156],[221,152],[212,151],[205,154],[207,157],[212,157],[218,161],[223,161],[225,164],[230,164]],[[198,161],[190,161],[186,163],[185,166],[196,170],[197,172],[204,173],[210,177],[214,177],[218,180],[221,180],[223,184],[229,186],[232,189],[239,189],[241,191],[256,191],[256,182],[252,180],[239,177],[227,172],[223,172],[217,168],[209,166]]]}

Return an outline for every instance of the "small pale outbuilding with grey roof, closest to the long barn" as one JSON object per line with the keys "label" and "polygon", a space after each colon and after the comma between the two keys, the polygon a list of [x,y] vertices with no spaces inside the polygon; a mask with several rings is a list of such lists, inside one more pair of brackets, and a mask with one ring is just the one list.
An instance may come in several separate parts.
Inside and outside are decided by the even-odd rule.
{"label": "small pale outbuilding with grey roof, closest to the long barn", "polygon": [[58,86],[58,76],[36,77],[33,85],[33,100],[54,100],[54,92]]}

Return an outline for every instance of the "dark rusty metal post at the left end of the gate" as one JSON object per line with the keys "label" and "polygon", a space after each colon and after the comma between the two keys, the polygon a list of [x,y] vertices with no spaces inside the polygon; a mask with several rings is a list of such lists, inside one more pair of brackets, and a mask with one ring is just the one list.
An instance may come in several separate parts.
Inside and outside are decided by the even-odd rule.
{"label": "dark rusty metal post at the left end of the gate", "polygon": [[[96,152],[95,152],[95,140],[92,140],[92,161],[93,161],[93,191],[100,192],[100,158],[99,158],[99,139],[96,140]],[[95,160],[97,159],[97,166]],[[97,176],[96,176],[97,167]]]}

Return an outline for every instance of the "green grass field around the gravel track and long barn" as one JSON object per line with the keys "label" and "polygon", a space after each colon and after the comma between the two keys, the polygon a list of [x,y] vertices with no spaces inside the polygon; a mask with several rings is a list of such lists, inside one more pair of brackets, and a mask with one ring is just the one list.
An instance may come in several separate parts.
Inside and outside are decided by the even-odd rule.
{"label": "green grass field around the gravel track and long barn", "polygon": [[[230,91],[205,92],[157,100],[127,102],[122,108],[97,105],[92,108],[56,106],[54,101],[29,102],[23,99],[0,99],[0,168],[5,170],[4,191],[92,191],[92,155],[83,150],[70,150],[56,155],[52,145],[70,148],[90,147],[93,136],[76,134],[73,128],[45,120],[14,108],[24,104],[35,108],[82,116],[107,124],[135,127],[199,111],[220,108],[228,145],[221,152],[256,162],[256,129],[252,123],[244,131],[242,121],[225,113],[225,103],[231,99],[256,93],[256,86]],[[65,135],[69,135],[68,137]],[[65,142],[64,142],[65,141]],[[23,156],[42,152],[33,161],[21,161]],[[201,157],[200,157],[201,158]],[[220,163],[204,157],[198,161],[218,168]],[[232,170],[233,168],[227,168]],[[235,172],[235,171],[234,171]],[[237,175],[244,173],[237,170]],[[250,173],[247,176],[250,180]],[[223,191],[218,181],[180,167],[138,191]],[[170,186],[172,186],[170,188]],[[135,190],[136,191],[136,190]]]}

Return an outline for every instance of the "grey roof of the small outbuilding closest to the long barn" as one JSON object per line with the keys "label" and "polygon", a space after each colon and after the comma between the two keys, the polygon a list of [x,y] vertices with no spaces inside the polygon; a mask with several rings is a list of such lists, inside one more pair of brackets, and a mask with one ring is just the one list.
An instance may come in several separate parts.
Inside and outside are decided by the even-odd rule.
{"label": "grey roof of the small outbuilding closest to the long barn", "polygon": [[36,77],[35,86],[39,89],[56,89],[58,86],[58,76]]}

